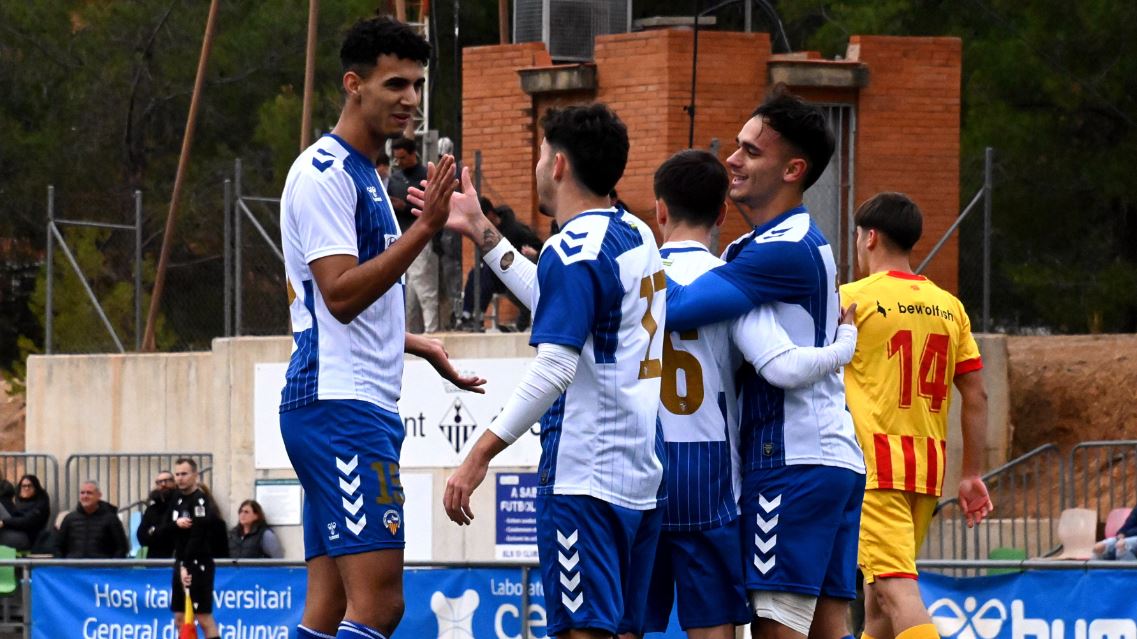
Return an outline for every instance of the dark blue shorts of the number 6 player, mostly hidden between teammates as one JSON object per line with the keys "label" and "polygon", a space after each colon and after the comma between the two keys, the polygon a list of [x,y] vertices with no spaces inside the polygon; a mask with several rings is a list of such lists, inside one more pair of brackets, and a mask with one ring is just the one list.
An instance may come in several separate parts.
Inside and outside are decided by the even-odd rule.
{"label": "dark blue shorts of the number 6 player, mostly hidden between teammates", "polygon": [[738,557],[740,521],[709,530],[664,531],[652,571],[648,632],[664,632],[678,591],[679,625],[683,630],[740,625],[750,621]]}

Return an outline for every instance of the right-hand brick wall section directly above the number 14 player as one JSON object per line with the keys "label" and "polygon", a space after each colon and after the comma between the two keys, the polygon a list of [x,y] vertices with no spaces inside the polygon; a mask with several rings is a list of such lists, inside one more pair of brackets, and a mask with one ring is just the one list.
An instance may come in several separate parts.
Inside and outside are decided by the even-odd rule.
{"label": "right-hand brick wall section directly above the number 14 player", "polygon": [[[850,57],[857,49],[871,75],[857,103],[856,202],[902,191],[920,205],[916,266],[960,213],[962,44],[956,38],[860,35],[849,40]],[[953,238],[927,271],[952,292],[958,255]]]}

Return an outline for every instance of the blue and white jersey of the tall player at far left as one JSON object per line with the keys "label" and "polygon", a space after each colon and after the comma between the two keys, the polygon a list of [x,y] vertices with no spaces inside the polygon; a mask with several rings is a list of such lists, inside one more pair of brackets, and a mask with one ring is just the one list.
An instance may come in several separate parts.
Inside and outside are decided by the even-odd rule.
{"label": "blue and white jersey of the tall player at far left", "polygon": [[324,305],[308,265],[330,255],[359,263],[399,238],[375,167],[335,135],[324,135],[292,163],[281,198],[281,239],[289,287],[292,356],[281,412],[317,399],[358,399],[398,412],[402,383],[402,285],[391,287],[341,324]]}

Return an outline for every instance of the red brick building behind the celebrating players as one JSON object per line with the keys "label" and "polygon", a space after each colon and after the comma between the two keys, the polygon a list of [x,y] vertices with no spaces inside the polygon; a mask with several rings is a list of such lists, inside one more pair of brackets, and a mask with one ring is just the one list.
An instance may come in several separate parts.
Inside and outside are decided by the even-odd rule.
{"label": "red brick building behind the celebrating players", "polygon": [[[465,49],[463,151],[482,153],[483,192],[508,204],[542,236],[533,167],[540,144],[537,121],[549,106],[601,101],[628,125],[631,153],[620,197],[645,219],[654,216],[652,176],[671,153],[687,148],[690,101],[690,30],[642,31],[596,39],[595,59],[554,65],[545,45]],[[833,244],[839,268],[850,273],[848,221],[857,204],[880,191],[908,193],[923,209],[921,259],[960,210],[960,74],[954,38],[853,36],[841,60],[812,53],[771,53],[764,33],[699,33],[695,147],[725,159],[735,135],[767,86],[786,83],[821,103],[838,132],[830,171],[806,202]],[[728,215],[722,238],[747,231]],[[468,259],[468,258],[467,258]],[[955,240],[928,274],[947,290],[957,285]],[[468,264],[468,262],[467,262]]]}

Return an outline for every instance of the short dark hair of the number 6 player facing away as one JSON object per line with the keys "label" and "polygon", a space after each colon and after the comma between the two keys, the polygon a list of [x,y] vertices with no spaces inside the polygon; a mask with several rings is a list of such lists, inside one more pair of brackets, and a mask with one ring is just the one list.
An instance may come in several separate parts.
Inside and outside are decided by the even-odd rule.
{"label": "short dark hair of the number 6 player facing away", "polygon": [[653,185],[655,197],[667,205],[667,215],[696,226],[714,226],[730,180],[714,155],[684,149],[655,169]]}

